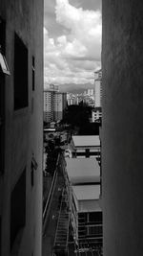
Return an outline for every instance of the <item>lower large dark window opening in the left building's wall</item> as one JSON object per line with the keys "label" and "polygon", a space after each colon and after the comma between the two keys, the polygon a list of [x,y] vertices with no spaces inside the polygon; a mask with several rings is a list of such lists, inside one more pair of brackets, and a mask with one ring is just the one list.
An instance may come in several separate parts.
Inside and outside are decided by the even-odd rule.
{"label": "lower large dark window opening in the left building's wall", "polygon": [[[26,169],[23,171],[10,197],[10,249],[26,224]],[[18,240],[19,241],[19,240]]]}

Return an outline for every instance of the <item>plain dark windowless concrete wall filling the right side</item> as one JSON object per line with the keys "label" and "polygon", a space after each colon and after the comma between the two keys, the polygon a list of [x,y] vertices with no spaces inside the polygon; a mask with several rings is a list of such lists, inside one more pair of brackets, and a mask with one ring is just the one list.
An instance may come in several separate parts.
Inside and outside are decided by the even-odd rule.
{"label": "plain dark windowless concrete wall filling the right side", "polygon": [[104,256],[141,256],[143,2],[102,5]]}

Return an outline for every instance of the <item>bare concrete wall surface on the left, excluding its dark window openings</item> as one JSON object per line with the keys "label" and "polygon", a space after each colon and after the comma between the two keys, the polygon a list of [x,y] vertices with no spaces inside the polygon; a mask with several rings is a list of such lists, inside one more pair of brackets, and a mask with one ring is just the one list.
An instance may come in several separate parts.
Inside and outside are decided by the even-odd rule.
{"label": "bare concrete wall surface on the left, excluding its dark window openings", "polygon": [[[6,58],[10,76],[5,80],[5,172],[0,176],[3,198],[1,255],[10,255],[10,195],[26,167],[26,225],[12,255],[41,255],[42,240],[42,138],[43,138],[43,1],[1,0],[0,16],[6,21]],[[29,52],[29,105],[14,110],[14,33]],[[35,89],[32,91],[32,56]],[[20,63],[19,63],[20,65]],[[21,67],[23,68],[23,67]],[[0,74],[1,76],[2,74]],[[22,80],[22,78],[21,78]],[[19,81],[20,86],[20,81]],[[31,186],[31,157],[38,164]],[[17,209],[18,211],[18,209]]]}

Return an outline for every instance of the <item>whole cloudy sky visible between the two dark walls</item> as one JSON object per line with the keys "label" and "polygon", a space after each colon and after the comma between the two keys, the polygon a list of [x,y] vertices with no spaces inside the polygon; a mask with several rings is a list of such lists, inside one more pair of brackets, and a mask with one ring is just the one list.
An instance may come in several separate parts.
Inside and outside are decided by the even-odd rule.
{"label": "whole cloudy sky visible between the two dark walls", "polygon": [[45,0],[44,86],[93,87],[101,67],[101,0]]}

